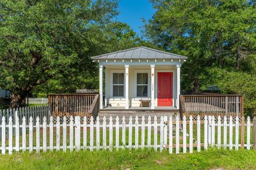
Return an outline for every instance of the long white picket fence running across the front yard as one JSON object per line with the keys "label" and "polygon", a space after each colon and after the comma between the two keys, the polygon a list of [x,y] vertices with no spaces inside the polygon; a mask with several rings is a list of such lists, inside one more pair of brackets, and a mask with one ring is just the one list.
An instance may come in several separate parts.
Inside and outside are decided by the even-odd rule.
{"label": "long white picket fence running across the front yard", "polygon": [[[18,111],[15,112],[15,119],[19,120]],[[256,118],[254,118],[253,124],[251,124],[250,117],[247,118],[246,124],[244,123],[244,118],[242,118],[242,123],[239,123],[239,118],[236,117],[235,123],[233,123],[232,117],[224,117],[222,123],[220,117],[216,121],[214,116],[205,116],[204,120],[201,120],[199,116],[197,120],[193,120],[191,116],[189,120],[186,117],[180,120],[179,116],[177,116],[173,120],[172,117],[162,116],[160,123],[157,122],[156,116],[154,120],[151,120],[150,116],[147,120],[145,120],[145,117],[142,117],[140,123],[138,116],[135,118],[135,121],[130,117],[129,123],[125,122],[125,117],[122,120],[116,117],[114,121],[110,117],[108,124],[106,123],[106,117],[103,117],[102,124],[100,124],[99,117],[97,117],[95,124],[93,117],[91,117],[90,123],[87,123],[87,121],[81,123],[82,119],[76,116],[74,122],[71,116],[69,122],[67,122],[67,118],[63,117],[63,123],[61,124],[60,117],[57,117],[57,123],[53,124],[53,117],[50,117],[50,123],[47,124],[46,117],[44,117],[43,124],[40,125],[39,117],[37,117],[34,125],[32,117],[29,120],[23,117],[22,124],[20,125],[19,121],[13,124],[12,117],[10,117],[7,120],[9,122],[7,125],[5,117],[3,117],[0,147],[2,154],[5,154],[6,151],[11,154],[13,151],[20,150],[29,150],[29,152],[33,150],[36,150],[36,152],[41,150],[63,150],[66,152],[68,149],[70,151],[74,149],[77,151],[81,149],[93,151],[94,149],[113,150],[145,147],[154,148],[155,150],[159,149],[159,151],[167,149],[170,153],[173,153],[173,151],[180,153],[181,150],[183,153],[187,151],[193,153],[194,149],[199,152],[215,146],[225,149],[228,147],[230,150],[233,148],[238,150],[239,147],[251,149],[253,146],[250,143],[251,126],[253,124],[254,126],[256,125]],[[84,119],[86,120],[86,117]],[[29,122],[29,124],[27,125],[26,122]],[[243,141],[245,138],[243,134],[245,132],[244,127],[246,127],[246,144]],[[4,133],[6,130],[9,131],[9,140],[7,142],[6,134]],[[233,130],[235,133],[233,133]],[[126,136],[127,131],[128,136]],[[241,135],[240,143],[239,134]],[[33,137],[34,135],[35,137]],[[203,136],[202,139],[201,135]]]}

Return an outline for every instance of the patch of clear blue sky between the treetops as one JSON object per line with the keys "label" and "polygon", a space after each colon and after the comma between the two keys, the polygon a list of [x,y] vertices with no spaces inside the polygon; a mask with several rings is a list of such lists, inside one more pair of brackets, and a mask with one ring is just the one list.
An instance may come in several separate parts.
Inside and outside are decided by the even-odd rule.
{"label": "patch of clear blue sky between the treetops", "polygon": [[141,18],[151,19],[154,9],[148,0],[119,0],[119,12],[117,19],[127,23],[141,36],[139,28],[143,26]]}

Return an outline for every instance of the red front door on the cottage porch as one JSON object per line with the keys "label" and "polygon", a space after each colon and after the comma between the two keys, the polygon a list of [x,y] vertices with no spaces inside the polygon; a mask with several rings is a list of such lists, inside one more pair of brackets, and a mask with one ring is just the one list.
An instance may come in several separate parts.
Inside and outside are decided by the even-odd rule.
{"label": "red front door on the cottage porch", "polygon": [[157,73],[157,106],[173,106],[172,72]]}

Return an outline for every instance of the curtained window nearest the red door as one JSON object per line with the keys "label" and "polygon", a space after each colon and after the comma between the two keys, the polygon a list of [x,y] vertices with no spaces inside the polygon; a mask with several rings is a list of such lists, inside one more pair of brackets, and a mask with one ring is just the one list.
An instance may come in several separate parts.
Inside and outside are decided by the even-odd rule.
{"label": "curtained window nearest the red door", "polygon": [[148,74],[137,73],[137,97],[148,96]]}

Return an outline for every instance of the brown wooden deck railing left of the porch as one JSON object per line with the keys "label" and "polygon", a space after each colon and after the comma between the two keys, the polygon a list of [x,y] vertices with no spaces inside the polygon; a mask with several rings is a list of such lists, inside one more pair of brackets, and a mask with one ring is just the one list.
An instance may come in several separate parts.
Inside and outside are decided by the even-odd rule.
{"label": "brown wooden deck railing left of the porch", "polygon": [[99,94],[49,94],[52,116],[97,116]]}

